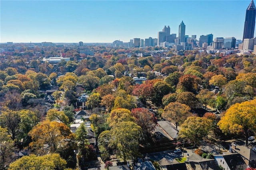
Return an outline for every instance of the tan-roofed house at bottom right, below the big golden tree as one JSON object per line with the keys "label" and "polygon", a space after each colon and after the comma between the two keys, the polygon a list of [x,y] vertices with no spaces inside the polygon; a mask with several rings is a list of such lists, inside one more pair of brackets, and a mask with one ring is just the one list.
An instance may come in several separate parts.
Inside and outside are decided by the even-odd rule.
{"label": "tan-roofed house at bottom right, below the big golden tree", "polygon": [[240,154],[246,165],[251,166],[252,168],[256,167],[256,151],[252,148],[244,145],[238,145],[233,142],[229,148],[229,152]]}

